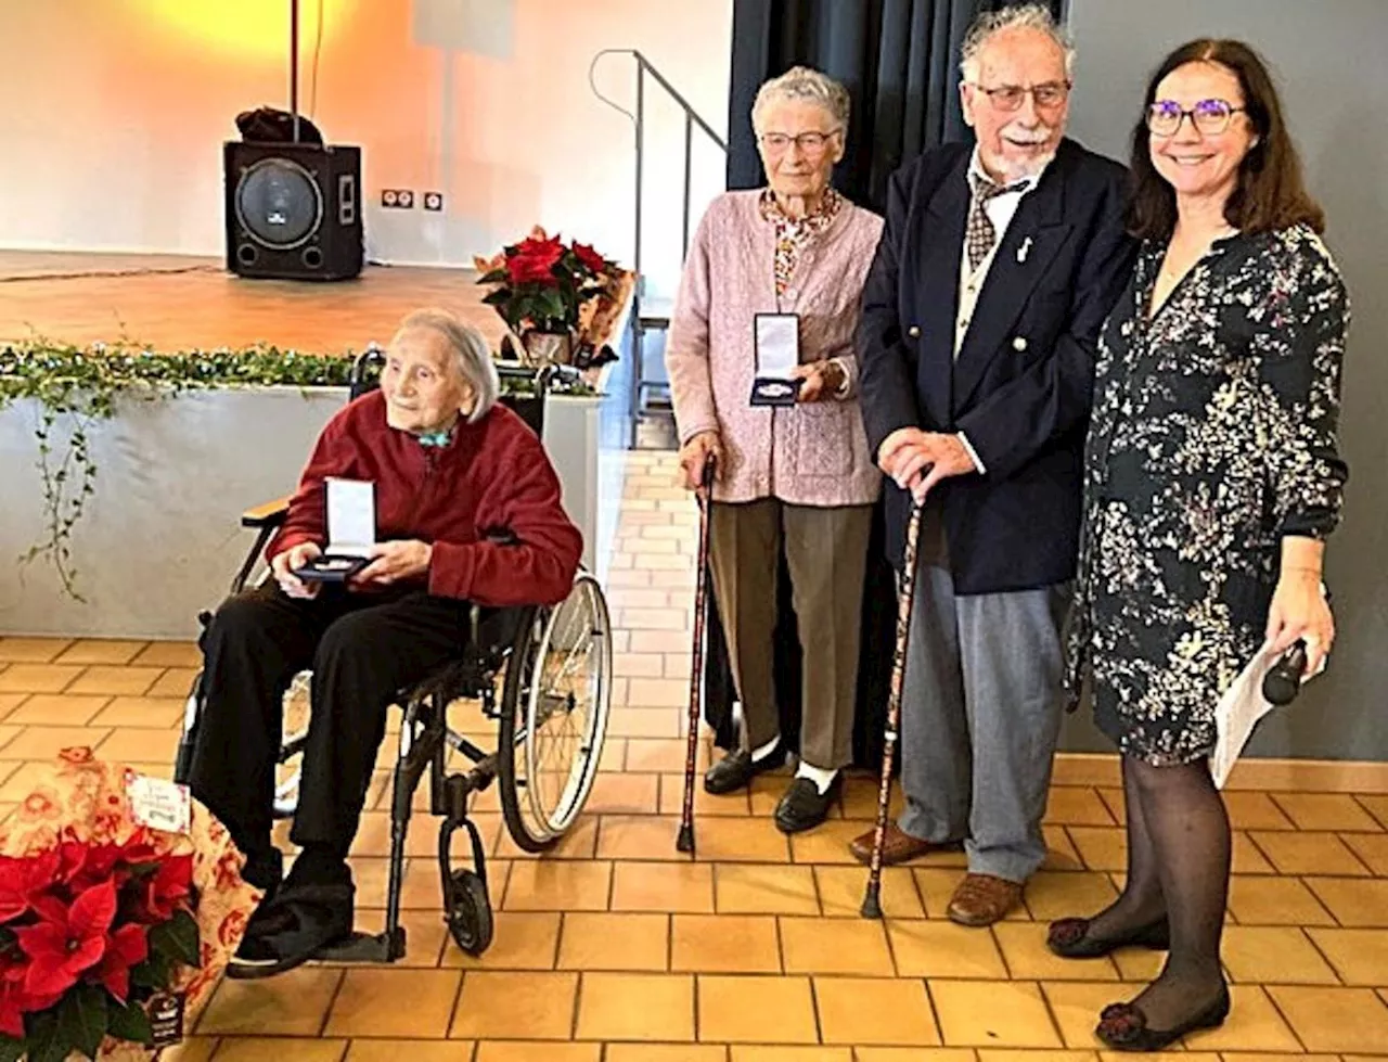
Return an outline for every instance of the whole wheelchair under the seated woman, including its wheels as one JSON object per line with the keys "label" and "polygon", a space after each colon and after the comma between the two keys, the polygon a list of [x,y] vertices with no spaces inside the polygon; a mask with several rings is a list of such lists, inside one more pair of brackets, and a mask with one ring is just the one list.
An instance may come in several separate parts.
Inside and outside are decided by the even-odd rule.
{"label": "whole wheelchair under the seated woman, including its wheels", "polygon": [[[351,396],[375,387],[369,375],[379,372],[375,347],[357,358]],[[543,428],[544,398],[554,373],[514,371],[533,382],[533,394],[502,398],[536,433]],[[244,562],[232,579],[235,596],[269,576],[261,564],[265,544],[283,523],[289,498],[283,497],[242,514],[242,526],[257,532]],[[211,612],[200,621],[205,626]],[[480,955],[491,944],[493,912],[487,887],[487,859],[482,834],[468,818],[473,794],[493,782],[512,840],[527,852],[551,848],[573,825],[597,777],[612,697],[612,637],[607,598],[597,579],[579,571],[569,596],[555,607],[480,608],[469,618],[468,648],[462,659],[416,686],[401,690],[404,709],[400,748],[390,779],[390,862],[386,922],[380,933],[354,932],[321,950],[328,962],[396,962],[405,955],[405,929],[400,925],[405,836],[414,797],[428,773],[429,812],[439,826],[439,873],[443,911],[450,936],[468,955]],[[293,816],[298,800],[298,765],[308,734],[311,672],[294,676],[285,693],[283,730],[275,786],[276,818]],[[497,748],[487,752],[448,727],[448,705],[458,700],[480,702],[482,715],[497,723]],[[192,766],[198,718],[203,708],[201,673],[193,680],[183,715],[183,733],[175,762],[175,780],[186,783]],[[471,765],[450,770],[450,752]],[[454,866],[452,836],[465,830],[471,840],[472,866]]]}

